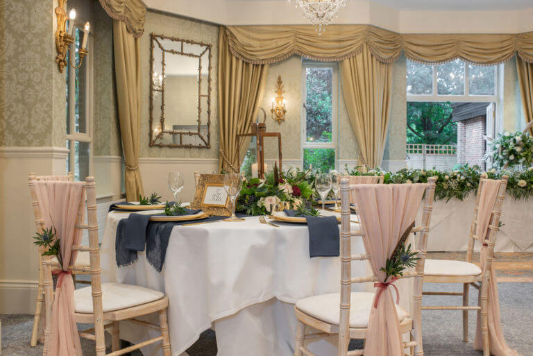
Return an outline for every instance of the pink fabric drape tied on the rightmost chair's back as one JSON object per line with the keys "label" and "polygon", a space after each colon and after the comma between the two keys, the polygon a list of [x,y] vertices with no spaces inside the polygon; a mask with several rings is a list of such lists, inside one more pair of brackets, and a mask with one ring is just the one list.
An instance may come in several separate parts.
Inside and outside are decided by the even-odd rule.
{"label": "pink fabric drape tied on the rightmost chair's back", "polygon": [[[498,197],[500,180],[486,179],[481,188],[480,204],[477,210],[476,236],[482,243],[489,237],[489,224],[491,215]],[[485,271],[485,257],[487,256],[487,246],[481,248],[481,269]],[[494,356],[518,356],[519,354],[507,346],[503,336],[500,321],[500,298],[498,297],[498,283],[496,282],[496,270],[491,264],[489,270],[489,295],[488,295],[488,325],[489,325],[489,346],[491,355]],[[475,332],[474,347],[483,350],[483,335],[481,332],[481,314],[477,312],[477,330]]]}

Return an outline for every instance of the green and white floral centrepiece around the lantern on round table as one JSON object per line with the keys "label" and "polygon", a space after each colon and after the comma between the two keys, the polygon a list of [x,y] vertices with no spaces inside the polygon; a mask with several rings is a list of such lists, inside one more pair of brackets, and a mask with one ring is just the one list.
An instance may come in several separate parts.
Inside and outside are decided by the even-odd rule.
{"label": "green and white floral centrepiece around the lantern on round table", "polygon": [[275,167],[265,179],[251,178],[243,182],[236,210],[249,215],[264,215],[281,202],[287,202],[291,207],[311,205],[313,183],[311,169],[302,171],[296,168],[278,173]]}

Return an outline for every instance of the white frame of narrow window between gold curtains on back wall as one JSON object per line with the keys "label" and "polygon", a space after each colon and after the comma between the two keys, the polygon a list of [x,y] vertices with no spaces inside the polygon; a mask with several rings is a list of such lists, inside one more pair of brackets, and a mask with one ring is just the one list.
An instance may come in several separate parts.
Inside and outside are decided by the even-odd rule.
{"label": "white frame of narrow window between gold curtains on back wall", "polygon": [[[305,103],[307,103],[307,68],[331,68],[331,142],[307,142],[307,110],[305,110]],[[339,83],[339,65],[337,62],[314,62],[310,60],[302,61],[302,119],[301,119],[301,157],[302,167],[304,160],[305,149],[333,149],[335,152],[335,169],[338,166],[338,149],[337,149],[337,103],[338,103],[338,83]]]}

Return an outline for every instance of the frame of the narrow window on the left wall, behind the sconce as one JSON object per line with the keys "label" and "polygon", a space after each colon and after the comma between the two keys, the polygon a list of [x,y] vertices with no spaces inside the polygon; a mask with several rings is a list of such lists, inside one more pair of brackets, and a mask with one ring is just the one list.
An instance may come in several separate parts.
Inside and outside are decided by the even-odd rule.
{"label": "frame of the narrow window on the left wall, behind the sconce", "polygon": [[[83,26],[82,23],[76,23],[74,24],[76,28],[78,28],[80,31],[83,32]],[[94,49],[94,35],[92,32],[89,33],[89,38],[87,39],[87,47],[89,49]],[[74,44],[72,45],[71,49],[74,49]],[[68,51],[68,56],[70,56],[71,63],[76,63],[76,52],[74,50]],[[85,75],[87,77],[87,80],[85,82],[85,88],[84,88],[84,95],[85,95],[85,127],[87,128],[86,133],[76,133],[76,75],[75,71],[76,69],[69,67],[69,85],[67,87],[68,93],[67,93],[67,99],[69,101],[69,128],[70,133],[68,133],[67,128],[65,128],[65,141],[68,142],[68,149],[69,149],[69,157],[67,158],[67,172],[73,172],[76,170],[76,150],[75,150],[75,144],[76,142],[84,142],[89,144],[89,176],[93,175],[94,167],[93,167],[93,144],[92,144],[92,137],[93,137],[93,128],[94,128],[94,56],[92,56],[92,51],[89,51],[87,53],[87,56],[85,56],[83,63],[81,65],[81,69],[84,69]],[[68,72],[67,72],[68,75]],[[66,81],[66,80],[65,80]],[[81,177],[80,177],[81,178]],[[85,178],[81,178],[84,180]]]}

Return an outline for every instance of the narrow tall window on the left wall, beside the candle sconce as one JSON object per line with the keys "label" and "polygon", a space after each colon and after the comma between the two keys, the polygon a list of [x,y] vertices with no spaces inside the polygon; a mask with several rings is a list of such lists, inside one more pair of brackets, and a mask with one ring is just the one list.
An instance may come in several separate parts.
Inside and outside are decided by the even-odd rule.
{"label": "narrow tall window on the left wall, beside the candle sconce", "polygon": [[[78,64],[78,49],[83,39],[83,28],[74,29],[75,51],[69,51],[71,63]],[[92,37],[89,37],[88,46]],[[66,67],[67,71],[67,172],[75,180],[85,180],[92,172],[92,56],[89,51],[80,68]]]}

